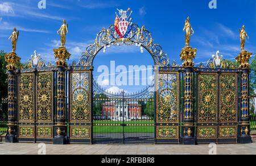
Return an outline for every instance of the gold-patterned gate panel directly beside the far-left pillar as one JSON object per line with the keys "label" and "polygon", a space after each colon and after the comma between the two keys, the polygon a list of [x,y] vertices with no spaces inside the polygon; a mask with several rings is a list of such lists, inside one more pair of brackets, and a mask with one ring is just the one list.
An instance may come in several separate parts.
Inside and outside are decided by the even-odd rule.
{"label": "gold-patterned gate panel directly beside the far-left pillar", "polygon": [[33,139],[35,137],[35,74],[20,73],[18,84],[18,138]]}

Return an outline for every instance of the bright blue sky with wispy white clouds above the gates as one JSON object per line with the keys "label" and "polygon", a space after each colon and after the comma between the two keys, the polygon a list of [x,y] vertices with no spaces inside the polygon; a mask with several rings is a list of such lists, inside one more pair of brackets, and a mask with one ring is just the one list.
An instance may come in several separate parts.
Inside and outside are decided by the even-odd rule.
{"label": "bright blue sky with wispy white clouds above the gates", "polygon": [[[34,50],[54,61],[53,48],[59,46],[57,30],[65,18],[69,24],[67,48],[76,60],[93,43],[96,34],[114,23],[116,9],[133,10],[133,22],[145,25],[154,43],[162,46],[170,60],[180,63],[179,53],[184,47],[184,20],[189,15],[195,35],[191,46],[197,48],[196,63],[207,61],[220,50],[225,59],[233,59],[240,52],[239,28],[245,24],[250,40],[245,47],[256,51],[256,1],[217,0],[217,9],[209,9],[210,0],[180,1],[82,1],[47,0],[47,9],[38,9],[39,0],[0,0],[0,49],[11,51],[9,38],[13,27],[20,30],[17,53],[22,62]],[[111,47],[94,60],[99,65],[152,65],[150,55],[136,47]],[[99,73],[94,72],[95,76]],[[121,87],[122,88],[122,87]],[[129,91],[136,90],[130,88]]]}

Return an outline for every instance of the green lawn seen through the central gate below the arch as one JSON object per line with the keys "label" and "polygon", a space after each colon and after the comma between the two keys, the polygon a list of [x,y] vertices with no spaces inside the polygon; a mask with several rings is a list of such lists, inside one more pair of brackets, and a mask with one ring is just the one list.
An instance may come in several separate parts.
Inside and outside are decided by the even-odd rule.
{"label": "green lawn seen through the central gate below the arch", "polygon": [[[121,124],[125,126],[121,126]],[[104,133],[154,133],[154,121],[93,121],[93,132]]]}

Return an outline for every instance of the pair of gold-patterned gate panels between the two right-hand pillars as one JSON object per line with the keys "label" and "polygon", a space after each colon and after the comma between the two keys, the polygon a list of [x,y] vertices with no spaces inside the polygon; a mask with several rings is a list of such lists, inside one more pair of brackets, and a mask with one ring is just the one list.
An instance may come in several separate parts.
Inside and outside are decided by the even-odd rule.
{"label": "pair of gold-patterned gate panels between the two right-hand pillars", "polygon": [[236,143],[238,75],[214,70],[198,76],[197,142]]}

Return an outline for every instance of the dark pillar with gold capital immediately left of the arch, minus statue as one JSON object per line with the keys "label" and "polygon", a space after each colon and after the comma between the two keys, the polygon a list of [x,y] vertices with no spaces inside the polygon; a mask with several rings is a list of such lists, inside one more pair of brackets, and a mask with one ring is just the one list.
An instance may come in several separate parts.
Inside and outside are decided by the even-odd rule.
{"label": "dark pillar with gold capital immediately left of the arch, minus statue", "polygon": [[66,123],[66,102],[65,102],[65,67],[67,66],[66,59],[69,59],[71,54],[65,47],[53,49],[55,58],[57,58],[57,107],[56,107],[56,122],[55,122],[55,136],[53,144],[67,144],[67,123]]}

